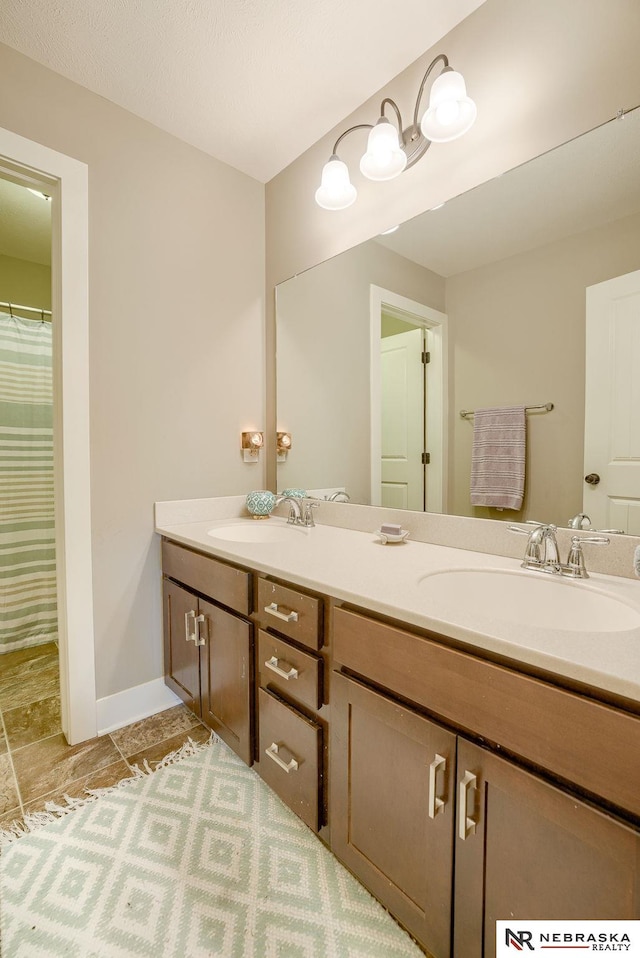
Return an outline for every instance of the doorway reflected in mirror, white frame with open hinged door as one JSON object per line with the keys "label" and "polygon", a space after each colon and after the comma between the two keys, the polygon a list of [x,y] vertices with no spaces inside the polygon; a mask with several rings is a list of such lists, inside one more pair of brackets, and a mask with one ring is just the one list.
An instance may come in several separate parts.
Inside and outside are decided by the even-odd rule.
{"label": "doorway reflected in mirror, white frame with open hinged door", "polygon": [[371,286],[371,504],[443,512],[447,317]]}

